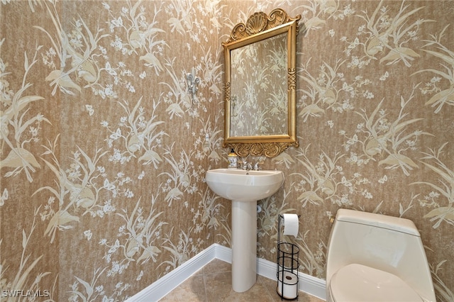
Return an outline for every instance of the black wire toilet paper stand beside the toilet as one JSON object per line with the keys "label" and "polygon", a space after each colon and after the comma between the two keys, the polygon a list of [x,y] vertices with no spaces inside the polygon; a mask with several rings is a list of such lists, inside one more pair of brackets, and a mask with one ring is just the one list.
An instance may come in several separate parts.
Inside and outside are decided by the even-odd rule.
{"label": "black wire toilet paper stand beside the toilet", "polygon": [[[300,216],[298,216],[299,218]],[[277,223],[277,294],[286,300],[298,298],[299,290],[299,247],[281,241],[284,216],[279,214]]]}

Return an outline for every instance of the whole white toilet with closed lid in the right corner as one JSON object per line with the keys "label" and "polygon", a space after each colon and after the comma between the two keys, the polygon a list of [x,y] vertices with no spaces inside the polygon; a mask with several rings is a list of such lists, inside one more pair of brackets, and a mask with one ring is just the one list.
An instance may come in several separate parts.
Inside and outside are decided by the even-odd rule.
{"label": "whole white toilet with closed lid in the right corner", "polygon": [[326,259],[327,301],[436,301],[411,220],[340,209]]}

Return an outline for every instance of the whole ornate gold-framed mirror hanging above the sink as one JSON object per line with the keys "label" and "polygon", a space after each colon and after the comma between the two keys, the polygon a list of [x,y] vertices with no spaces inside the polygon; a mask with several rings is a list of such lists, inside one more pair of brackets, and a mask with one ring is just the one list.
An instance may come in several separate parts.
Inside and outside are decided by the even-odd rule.
{"label": "whole ornate gold-framed mirror hanging above the sink", "polygon": [[254,13],[222,43],[226,60],[224,147],[276,157],[297,141],[297,34],[301,16]]}

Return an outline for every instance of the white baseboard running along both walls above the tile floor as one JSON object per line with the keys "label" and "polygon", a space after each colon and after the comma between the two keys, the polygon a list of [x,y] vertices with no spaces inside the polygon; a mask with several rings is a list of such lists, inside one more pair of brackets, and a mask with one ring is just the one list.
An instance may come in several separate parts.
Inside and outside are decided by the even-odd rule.
{"label": "white baseboard running along both walls above the tile floor", "polygon": [[[169,274],[166,274],[162,278],[150,284],[142,291],[139,291],[131,298],[128,298],[127,302],[136,301],[159,301],[167,293],[170,293],[179,284],[182,284],[192,274],[197,272],[199,269],[204,267],[206,264],[211,262],[213,259],[220,259],[224,262],[232,263],[232,250],[228,247],[218,245],[209,246],[206,250],[199,252],[196,256],[184,262],[182,265],[174,269]],[[257,273],[265,278],[277,280],[277,265],[275,262],[270,262],[266,259],[257,259]],[[326,282],[323,279],[303,274],[299,272],[299,290],[309,293],[312,296],[326,300]]]}

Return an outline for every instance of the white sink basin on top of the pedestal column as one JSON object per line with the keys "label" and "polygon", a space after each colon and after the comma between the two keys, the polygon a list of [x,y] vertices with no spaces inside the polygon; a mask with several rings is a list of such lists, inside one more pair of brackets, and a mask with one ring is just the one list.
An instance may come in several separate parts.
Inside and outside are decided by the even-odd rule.
{"label": "white sink basin on top of the pedestal column", "polygon": [[205,179],[210,189],[223,198],[255,202],[275,194],[284,183],[284,174],[273,170],[212,169]]}

